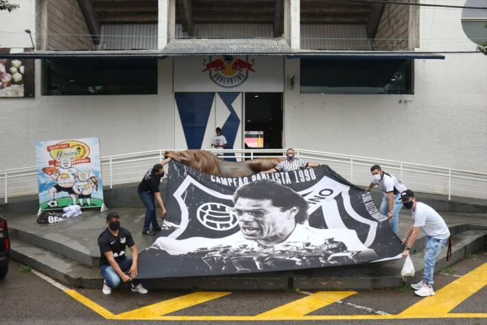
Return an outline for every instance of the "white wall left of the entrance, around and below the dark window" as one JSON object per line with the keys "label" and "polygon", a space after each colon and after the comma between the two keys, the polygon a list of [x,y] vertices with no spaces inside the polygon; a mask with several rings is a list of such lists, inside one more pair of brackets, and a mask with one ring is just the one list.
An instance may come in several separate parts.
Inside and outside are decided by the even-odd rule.
{"label": "white wall left of the entrance, around and below the dark window", "polygon": [[36,165],[34,141],[99,136],[102,156],[174,146],[172,59],[158,61],[158,95],[0,99],[0,170]]}

